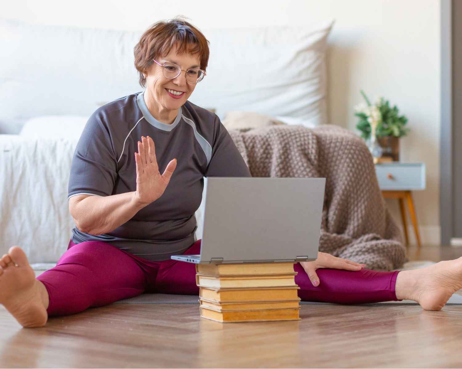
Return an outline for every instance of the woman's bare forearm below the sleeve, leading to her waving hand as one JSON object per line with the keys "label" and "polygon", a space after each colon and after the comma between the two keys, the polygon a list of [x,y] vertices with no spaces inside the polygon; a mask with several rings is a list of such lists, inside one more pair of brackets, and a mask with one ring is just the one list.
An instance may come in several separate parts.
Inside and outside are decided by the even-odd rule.
{"label": "woman's bare forearm below the sleeve, leading to her waving hand", "polygon": [[77,228],[93,235],[114,231],[146,206],[138,203],[134,194],[85,197],[75,205],[73,218]]}

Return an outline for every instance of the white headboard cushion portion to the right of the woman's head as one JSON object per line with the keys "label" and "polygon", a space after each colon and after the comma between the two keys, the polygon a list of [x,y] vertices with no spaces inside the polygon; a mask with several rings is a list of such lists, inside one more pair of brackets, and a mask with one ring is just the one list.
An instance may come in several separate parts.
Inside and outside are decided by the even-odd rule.
{"label": "white headboard cushion portion to the right of the woman's head", "polygon": [[327,123],[325,52],[333,23],[202,30],[209,66],[189,100],[215,107],[221,119],[238,110]]}

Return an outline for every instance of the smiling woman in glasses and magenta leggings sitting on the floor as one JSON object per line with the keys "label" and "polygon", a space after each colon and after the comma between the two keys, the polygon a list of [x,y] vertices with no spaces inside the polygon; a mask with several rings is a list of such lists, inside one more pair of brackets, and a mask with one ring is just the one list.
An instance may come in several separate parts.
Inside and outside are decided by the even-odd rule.
{"label": "smiling woman in glasses and magenta leggings sitting on the floor", "polygon": [[[77,145],[68,250],[36,279],[19,247],[0,259],[0,303],[24,327],[143,292],[197,295],[195,265],[170,255],[200,252],[194,214],[203,177],[250,176],[218,117],[188,101],[206,75],[201,32],[180,19],[158,22],[134,55],[146,89],[97,109]],[[441,309],[462,287],[462,258],[400,273],[363,267],[319,253],[294,266],[299,296],[344,304],[413,299]]]}

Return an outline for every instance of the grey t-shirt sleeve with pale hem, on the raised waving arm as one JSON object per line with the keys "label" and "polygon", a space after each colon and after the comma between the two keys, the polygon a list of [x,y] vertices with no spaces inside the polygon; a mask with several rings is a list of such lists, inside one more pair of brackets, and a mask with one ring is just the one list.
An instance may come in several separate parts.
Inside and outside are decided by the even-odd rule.
{"label": "grey t-shirt sleeve with pale hem, on the raised waving arm", "polygon": [[117,159],[103,114],[91,115],[75,149],[68,197],[88,194],[110,196],[117,177]]}

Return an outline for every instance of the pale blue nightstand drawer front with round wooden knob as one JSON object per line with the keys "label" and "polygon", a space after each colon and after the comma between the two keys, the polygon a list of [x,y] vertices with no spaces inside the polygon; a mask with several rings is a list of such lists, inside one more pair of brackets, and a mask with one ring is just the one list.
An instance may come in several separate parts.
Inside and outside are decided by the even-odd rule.
{"label": "pale blue nightstand drawer front with round wooden knob", "polygon": [[376,164],[378,185],[381,190],[425,190],[425,164]]}

